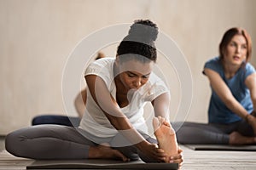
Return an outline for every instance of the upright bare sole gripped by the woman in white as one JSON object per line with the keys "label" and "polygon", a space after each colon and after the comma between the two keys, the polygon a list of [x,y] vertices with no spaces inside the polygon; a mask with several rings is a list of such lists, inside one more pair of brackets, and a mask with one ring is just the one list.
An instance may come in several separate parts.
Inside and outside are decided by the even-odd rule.
{"label": "upright bare sole gripped by the woman in white", "polygon": [[[154,117],[153,127],[154,135],[158,141],[160,149],[165,150],[168,158],[177,155],[177,139],[171,124],[159,116]],[[169,161],[170,159],[166,159],[166,162]]]}

